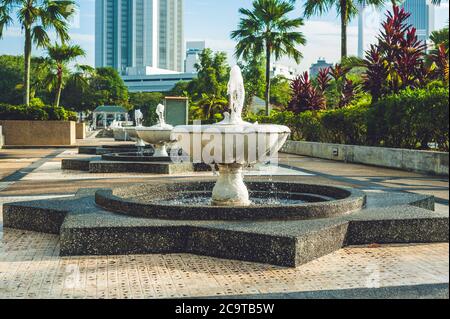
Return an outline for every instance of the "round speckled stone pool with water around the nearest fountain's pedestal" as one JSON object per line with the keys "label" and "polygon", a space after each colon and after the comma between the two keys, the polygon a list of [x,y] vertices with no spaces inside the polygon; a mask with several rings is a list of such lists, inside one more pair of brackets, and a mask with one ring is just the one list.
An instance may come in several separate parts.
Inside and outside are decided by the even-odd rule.
{"label": "round speckled stone pool with water around the nearest fountain's pedestal", "polygon": [[212,206],[214,181],[143,184],[95,194],[98,206],[135,217],[170,220],[303,220],[344,216],[365,206],[351,188],[248,182],[248,206]]}

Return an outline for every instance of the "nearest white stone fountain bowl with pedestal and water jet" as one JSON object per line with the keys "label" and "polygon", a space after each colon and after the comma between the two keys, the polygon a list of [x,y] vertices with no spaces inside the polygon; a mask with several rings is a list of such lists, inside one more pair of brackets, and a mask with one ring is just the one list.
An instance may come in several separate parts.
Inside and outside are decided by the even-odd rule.
{"label": "nearest white stone fountain bowl with pedestal and water jet", "polygon": [[241,70],[231,70],[228,83],[231,113],[213,125],[176,126],[172,140],[186,151],[194,163],[217,164],[219,178],[212,192],[214,206],[248,206],[249,193],[243,181],[243,168],[264,162],[283,146],[290,129],[282,125],[248,123],[242,120],[245,100]]}

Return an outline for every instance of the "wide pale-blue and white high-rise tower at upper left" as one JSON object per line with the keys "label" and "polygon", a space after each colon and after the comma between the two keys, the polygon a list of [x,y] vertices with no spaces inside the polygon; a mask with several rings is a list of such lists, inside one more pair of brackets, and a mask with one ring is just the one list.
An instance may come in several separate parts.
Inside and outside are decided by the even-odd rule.
{"label": "wide pale-blue and white high-rise tower at upper left", "polygon": [[96,0],[95,64],[183,71],[183,0]]}

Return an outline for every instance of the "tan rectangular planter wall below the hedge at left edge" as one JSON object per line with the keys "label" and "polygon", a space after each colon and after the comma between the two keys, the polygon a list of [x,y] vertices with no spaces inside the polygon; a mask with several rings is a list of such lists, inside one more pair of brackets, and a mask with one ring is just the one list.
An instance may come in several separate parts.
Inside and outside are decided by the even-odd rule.
{"label": "tan rectangular planter wall below the hedge at left edge", "polygon": [[5,121],[6,146],[66,146],[76,143],[76,123],[72,121]]}

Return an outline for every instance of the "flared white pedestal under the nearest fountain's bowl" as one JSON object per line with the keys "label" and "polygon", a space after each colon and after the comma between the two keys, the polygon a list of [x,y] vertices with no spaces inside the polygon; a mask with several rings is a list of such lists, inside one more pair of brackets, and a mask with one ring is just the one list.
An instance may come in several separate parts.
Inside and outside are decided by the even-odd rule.
{"label": "flared white pedestal under the nearest fountain's bowl", "polygon": [[243,180],[243,165],[219,164],[219,178],[212,192],[214,206],[248,206],[247,186]]}

